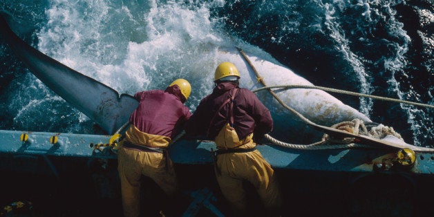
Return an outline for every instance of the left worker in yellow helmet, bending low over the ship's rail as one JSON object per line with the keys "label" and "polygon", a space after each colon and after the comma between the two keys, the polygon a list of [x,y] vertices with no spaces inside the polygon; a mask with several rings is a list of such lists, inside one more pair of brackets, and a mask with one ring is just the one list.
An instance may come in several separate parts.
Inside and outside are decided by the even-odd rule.
{"label": "left worker in yellow helmet, bending low over the ship's rail", "polygon": [[[178,179],[166,148],[191,116],[184,105],[190,93],[191,86],[185,79],[176,79],[165,91],[135,93],[139,105],[130,116],[130,126],[120,142],[117,156],[124,216],[144,215],[140,211],[142,175],[154,180],[169,198],[177,196]],[[166,213],[171,211],[166,208]],[[157,216],[158,213],[149,214],[148,211],[145,215]]]}

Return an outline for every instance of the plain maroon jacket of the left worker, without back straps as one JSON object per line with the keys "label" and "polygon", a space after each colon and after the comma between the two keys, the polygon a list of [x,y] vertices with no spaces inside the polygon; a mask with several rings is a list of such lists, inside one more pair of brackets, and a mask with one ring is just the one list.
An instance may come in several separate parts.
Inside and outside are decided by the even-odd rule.
{"label": "plain maroon jacket of the left worker, without back straps", "polygon": [[178,85],[169,86],[166,91],[138,92],[134,97],[139,106],[131,114],[130,122],[144,133],[173,138],[191,116],[181,102],[183,96]]}

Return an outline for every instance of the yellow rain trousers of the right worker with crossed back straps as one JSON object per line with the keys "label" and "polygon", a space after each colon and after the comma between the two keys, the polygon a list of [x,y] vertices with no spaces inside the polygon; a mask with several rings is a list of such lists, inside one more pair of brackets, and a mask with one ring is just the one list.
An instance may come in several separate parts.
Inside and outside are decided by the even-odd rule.
{"label": "yellow rain trousers of the right worker with crossed back straps", "polygon": [[[236,149],[253,149],[256,144],[252,134],[244,139]],[[218,149],[225,149],[217,144]],[[273,213],[281,206],[279,184],[274,177],[274,170],[258,150],[244,153],[223,153],[217,155],[216,177],[223,196],[236,211],[247,214],[246,193],[243,180],[254,185],[267,211]]]}

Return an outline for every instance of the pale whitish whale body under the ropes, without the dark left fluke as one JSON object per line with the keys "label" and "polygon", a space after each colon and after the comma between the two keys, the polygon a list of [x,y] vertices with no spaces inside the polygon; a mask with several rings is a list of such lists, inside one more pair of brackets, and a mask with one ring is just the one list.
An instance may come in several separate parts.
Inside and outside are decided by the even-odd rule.
{"label": "pale whitish whale body under the ropes, without the dark left fluke", "polygon": [[[243,52],[245,53],[245,52]],[[303,77],[296,75],[289,68],[282,66],[265,52],[255,50],[254,55],[245,53],[249,60],[241,55],[237,48],[219,48],[216,51],[216,64],[219,62],[233,62],[240,71],[240,86],[254,91],[263,87],[258,82],[256,70],[267,86],[303,85],[314,86]],[[343,104],[336,97],[325,91],[314,88],[290,88],[285,91],[275,91],[276,95],[296,112],[316,124],[332,126],[339,122],[359,119],[364,122],[372,122],[366,115],[356,109]],[[300,118],[285,109],[270,93],[264,91],[258,93],[261,101],[270,109],[274,120],[274,130],[271,135],[276,138],[302,142],[312,140],[310,137],[318,133],[306,125]],[[288,137],[287,134],[302,132],[296,137]]]}

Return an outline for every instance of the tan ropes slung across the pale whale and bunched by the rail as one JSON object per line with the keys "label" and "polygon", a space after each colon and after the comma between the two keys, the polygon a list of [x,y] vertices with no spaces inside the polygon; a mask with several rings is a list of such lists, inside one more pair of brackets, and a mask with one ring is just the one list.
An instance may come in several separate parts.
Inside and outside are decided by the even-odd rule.
{"label": "tan ropes slung across the pale whale and bunched by the rail", "polygon": [[[240,52],[240,54],[243,56],[243,58],[245,59],[247,64],[249,64],[250,68],[252,68],[252,70],[256,74],[256,79],[258,80],[258,82],[261,82],[261,84],[264,86],[263,88],[258,88],[256,90],[254,90],[253,92],[258,92],[258,91],[263,91],[263,90],[269,91],[270,94],[277,100],[277,102],[279,102],[283,107],[285,107],[285,109],[291,111],[296,116],[298,116],[301,120],[303,120],[306,124],[308,124],[309,126],[313,126],[315,129],[321,129],[321,128],[327,128],[327,127],[315,124],[314,122],[308,120],[308,118],[301,115],[301,113],[295,111],[290,106],[287,106],[287,104],[285,104],[280,99],[280,97],[277,96],[276,93],[274,93],[274,91],[272,91],[272,88],[317,88],[317,89],[320,89],[323,91],[329,91],[329,92],[334,92],[334,93],[355,95],[355,96],[359,96],[359,97],[370,97],[370,98],[377,99],[377,100],[386,100],[386,101],[390,101],[390,102],[399,102],[399,103],[404,103],[404,104],[412,104],[415,106],[424,106],[426,108],[434,108],[434,106],[428,105],[428,104],[420,104],[420,103],[416,103],[416,102],[397,100],[397,99],[388,98],[388,97],[379,97],[379,96],[375,96],[375,95],[366,95],[366,94],[362,94],[362,93],[342,91],[342,90],[338,90],[338,89],[334,89],[334,88],[326,88],[326,87],[322,87],[322,86],[308,86],[308,85],[267,86],[267,84],[265,84],[263,77],[261,77],[259,75],[258,71],[253,66],[252,62],[250,62],[249,58],[247,57],[247,55],[245,55],[243,50],[241,50],[240,48],[237,48],[237,49]],[[364,126],[363,121],[357,120],[357,119],[352,120],[352,122],[341,122],[339,124],[334,124],[331,128],[339,129],[341,131],[347,131],[349,133],[353,133],[353,134],[357,135],[359,133],[359,127],[361,127],[362,131],[364,132],[364,133],[361,133],[361,135],[369,135],[371,137],[379,137],[379,134],[381,134],[381,136],[394,135],[395,137],[402,139],[401,135],[399,135],[398,133],[393,131],[392,128],[388,128],[388,126],[384,126],[382,124],[379,124],[379,127],[382,127],[382,129],[377,129],[377,131],[371,131],[370,133],[368,133],[368,131],[366,130],[366,126]],[[390,129],[391,129],[391,131],[390,131]],[[380,131],[383,131],[386,133],[378,133]],[[287,142],[282,142],[282,141],[276,140],[275,138],[272,138],[272,136],[268,135],[268,134],[265,134],[265,138],[267,138],[267,140],[270,140],[270,142],[277,144],[281,147],[287,147],[287,148],[291,148],[291,149],[308,149],[308,150],[312,150],[312,149],[349,149],[349,148],[356,148],[356,147],[380,148],[380,147],[373,147],[373,146],[366,145],[366,144],[354,143],[354,142],[359,142],[359,141],[355,140],[355,138],[336,139],[336,138],[333,138],[332,136],[330,136],[328,134],[324,134],[321,141],[315,142],[312,144],[290,144]],[[327,144],[327,143],[333,143],[333,144]],[[434,151],[434,149],[429,149],[429,150]]]}

